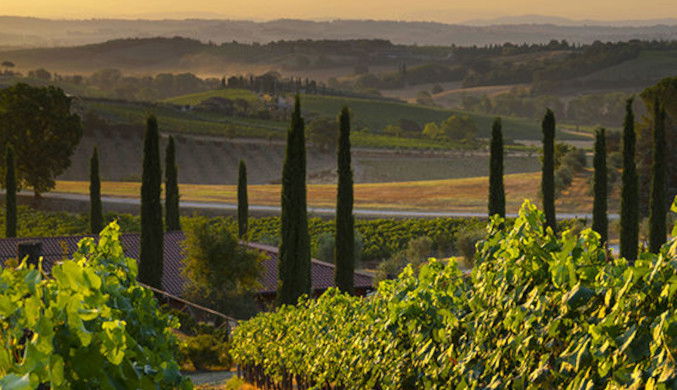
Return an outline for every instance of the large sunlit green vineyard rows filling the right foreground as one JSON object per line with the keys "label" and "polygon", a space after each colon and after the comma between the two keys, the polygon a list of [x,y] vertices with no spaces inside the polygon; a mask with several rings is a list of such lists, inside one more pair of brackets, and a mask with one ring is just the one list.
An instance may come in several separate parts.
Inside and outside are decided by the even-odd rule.
{"label": "large sunlit green vineyard rows filling the right foreground", "polygon": [[675,388],[675,238],[629,264],[597,233],[558,238],[543,221],[529,202],[511,227],[493,220],[470,277],[431,260],[368,298],[330,290],[254,317],[233,333],[241,376],[265,389]]}

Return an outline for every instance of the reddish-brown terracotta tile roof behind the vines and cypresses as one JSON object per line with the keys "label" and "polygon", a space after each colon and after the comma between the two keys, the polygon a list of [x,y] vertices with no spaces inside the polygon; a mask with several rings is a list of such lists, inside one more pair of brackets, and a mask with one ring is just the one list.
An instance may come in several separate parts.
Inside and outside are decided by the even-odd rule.
{"label": "reddish-brown terracotta tile roof behind the vines and cypresses", "polygon": [[[0,239],[0,264],[6,259],[17,257],[17,245],[23,242],[40,242],[42,244],[42,256],[44,257],[44,267],[49,271],[54,262],[70,258],[77,249],[77,244],[85,237],[94,237],[92,235],[80,236],[61,236],[61,237],[40,237],[40,238],[3,238]],[[164,272],[162,277],[163,289],[172,294],[181,296],[183,292],[184,278],[181,275],[183,266],[183,254],[181,242],[184,239],[182,232],[165,233],[164,239]],[[120,241],[124,248],[125,255],[133,259],[139,257],[140,234],[125,233],[120,235]],[[278,253],[277,248],[273,246],[243,243],[250,248],[258,249],[267,254],[263,261],[263,272],[261,274],[261,289],[259,294],[274,294],[277,291],[278,275]],[[316,259],[312,260],[311,283],[314,292],[323,291],[334,286],[334,265],[325,263]],[[373,286],[373,277],[365,272],[355,272],[355,288],[370,289]]]}

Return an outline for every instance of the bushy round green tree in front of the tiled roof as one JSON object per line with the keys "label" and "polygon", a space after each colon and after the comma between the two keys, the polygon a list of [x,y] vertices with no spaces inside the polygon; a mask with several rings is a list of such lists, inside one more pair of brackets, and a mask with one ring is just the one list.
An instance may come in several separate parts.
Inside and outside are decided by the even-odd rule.
{"label": "bushy round green tree in front of the tiled roof", "polygon": [[183,275],[188,299],[228,312],[233,297],[260,287],[265,254],[242,247],[237,236],[217,220],[194,218],[186,226]]}

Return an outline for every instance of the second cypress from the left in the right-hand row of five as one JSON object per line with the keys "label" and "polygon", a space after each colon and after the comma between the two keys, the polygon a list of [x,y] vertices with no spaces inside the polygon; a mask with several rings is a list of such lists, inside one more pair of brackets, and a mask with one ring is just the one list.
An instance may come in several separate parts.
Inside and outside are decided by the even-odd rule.
{"label": "second cypress from the left in the right-hand row of five", "polygon": [[555,217],[555,114],[548,109],[543,117],[543,174],[541,196],[545,212],[545,226],[557,231]]}

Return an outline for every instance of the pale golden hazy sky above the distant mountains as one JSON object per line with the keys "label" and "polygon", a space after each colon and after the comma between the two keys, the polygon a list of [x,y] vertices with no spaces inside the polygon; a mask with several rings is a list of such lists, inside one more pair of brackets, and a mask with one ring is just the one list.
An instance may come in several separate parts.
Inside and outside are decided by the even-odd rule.
{"label": "pale golden hazy sky above the distant mountains", "polygon": [[0,15],[50,18],[394,19],[458,22],[524,14],[677,17],[677,0],[0,0]]}

